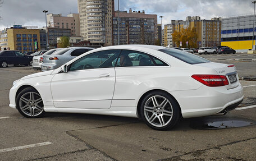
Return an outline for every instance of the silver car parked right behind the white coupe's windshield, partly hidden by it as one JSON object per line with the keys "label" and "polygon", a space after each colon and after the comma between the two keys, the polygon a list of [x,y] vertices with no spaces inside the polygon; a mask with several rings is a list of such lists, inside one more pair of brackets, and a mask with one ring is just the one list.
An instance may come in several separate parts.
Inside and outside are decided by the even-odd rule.
{"label": "silver car parked right behind the white coupe's windshield, partly hidden by it", "polygon": [[88,47],[70,47],[58,50],[51,55],[43,55],[41,70],[54,70],[62,66],[66,62],[70,61],[71,59],[74,59],[75,57],[80,56],[81,54],[93,49],[94,48]]}

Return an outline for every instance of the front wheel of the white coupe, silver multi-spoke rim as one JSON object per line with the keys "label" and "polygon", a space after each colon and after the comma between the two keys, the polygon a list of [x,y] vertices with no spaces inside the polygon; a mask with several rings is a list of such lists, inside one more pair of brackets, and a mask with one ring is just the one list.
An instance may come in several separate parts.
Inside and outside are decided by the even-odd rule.
{"label": "front wheel of the white coupe, silver multi-spoke rim", "polygon": [[43,100],[32,87],[25,88],[17,95],[16,107],[20,114],[27,118],[39,118],[45,113]]}

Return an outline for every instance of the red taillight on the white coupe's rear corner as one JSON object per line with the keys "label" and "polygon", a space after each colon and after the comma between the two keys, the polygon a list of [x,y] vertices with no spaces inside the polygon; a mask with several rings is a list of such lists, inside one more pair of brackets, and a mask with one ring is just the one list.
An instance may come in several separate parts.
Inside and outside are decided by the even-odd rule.
{"label": "red taillight on the white coupe's rear corner", "polygon": [[193,79],[202,82],[202,84],[207,86],[225,86],[228,85],[228,80],[226,76],[220,75],[193,75]]}

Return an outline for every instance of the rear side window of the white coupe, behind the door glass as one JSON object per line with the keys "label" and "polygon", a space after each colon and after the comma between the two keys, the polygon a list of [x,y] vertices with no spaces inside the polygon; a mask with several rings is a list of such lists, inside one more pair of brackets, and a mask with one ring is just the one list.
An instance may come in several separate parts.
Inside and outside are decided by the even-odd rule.
{"label": "rear side window of the white coupe, behind the door glass", "polygon": [[135,50],[122,50],[116,67],[154,66],[148,54]]}

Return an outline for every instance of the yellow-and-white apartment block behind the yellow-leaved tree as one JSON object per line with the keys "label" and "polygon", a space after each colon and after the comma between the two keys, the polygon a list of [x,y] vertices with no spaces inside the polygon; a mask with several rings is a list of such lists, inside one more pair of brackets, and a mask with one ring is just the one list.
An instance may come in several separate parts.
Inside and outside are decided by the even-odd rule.
{"label": "yellow-and-white apartment block behind the yellow-leaved tree", "polygon": [[171,24],[164,25],[164,45],[170,44],[175,47],[172,42],[172,33],[174,31],[181,31],[182,28],[186,29],[195,28],[198,47],[214,47],[221,45],[221,18],[214,17],[211,20],[201,20],[200,16],[187,17],[186,21],[171,20]]}

